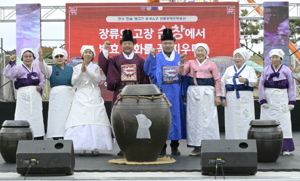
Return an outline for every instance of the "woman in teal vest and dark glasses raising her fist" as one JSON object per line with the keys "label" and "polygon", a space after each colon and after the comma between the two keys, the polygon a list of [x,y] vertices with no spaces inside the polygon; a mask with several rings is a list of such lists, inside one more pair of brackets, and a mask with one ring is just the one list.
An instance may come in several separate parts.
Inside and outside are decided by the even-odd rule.
{"label": "woman in teal vest and dark glasses raising her fist", "polygon": [[71,109],[74,97],[72,89],[73,67],[65,65],[67,52],[61,48],[55,48],[52,57],[56,65],[49,66],[42,59],[42,50],[37,50],[39,54],[39,68],[43,74],[49,77],[51,92],[49,96],[47,138],[53,140],[63,139],[64,127],[67,116]]}

